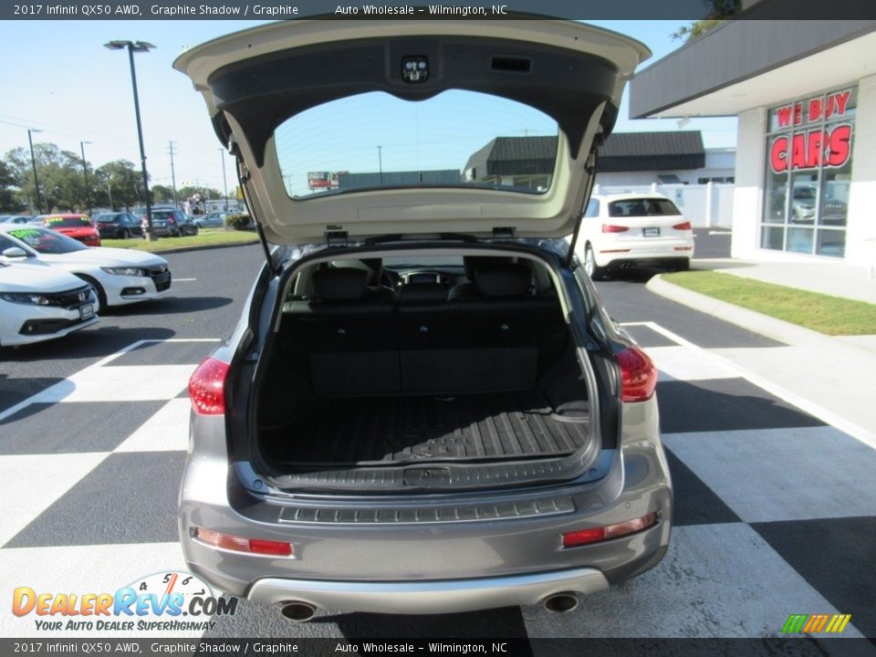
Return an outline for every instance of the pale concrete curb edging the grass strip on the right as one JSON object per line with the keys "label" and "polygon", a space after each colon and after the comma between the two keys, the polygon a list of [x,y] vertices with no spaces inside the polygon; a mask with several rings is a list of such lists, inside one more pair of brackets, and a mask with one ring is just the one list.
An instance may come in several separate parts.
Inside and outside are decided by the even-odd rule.
{"label": "pale concrete curb edging the grass strip on the right", "polygon": [[767,338],[776,339],[779,342],[784,342],[795,347],[815,347],[819,349],[841,349],[849,350],[849,353],[860,354],[866,349],[850,345],[845,342],[840,342],[823,333],[814,331],[811,328],[803,328],[797,324],[782,319],[771,318],[762,313],[741,308],[733,304],[721,301],[714,297],[708,297],[699,292],[694,292],[686,287],[680,287],[663,280],[662,275],[653,276],[645,285],[654,294],[661,297],[666,297],[672,301],[694,308],[710,315],[714,318],[723,319],[724,321],[735,324],[738,327],[746,328],[747,330],[759,333]]}

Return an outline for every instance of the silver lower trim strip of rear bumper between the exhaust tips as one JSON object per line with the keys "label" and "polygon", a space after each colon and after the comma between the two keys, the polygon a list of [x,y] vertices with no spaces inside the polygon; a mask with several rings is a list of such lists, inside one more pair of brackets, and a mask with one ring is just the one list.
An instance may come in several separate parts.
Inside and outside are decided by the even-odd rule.
{"label": "silver lower trim strip of rear bumper between the exhaust tips", "polygon": [[265,606],[308,602],[321,609],[392,614],[452,613],[534,605],[556,593],[581,595],[608,589],[595,568],[513,577],[404,582],[259,579],[247,598]]}

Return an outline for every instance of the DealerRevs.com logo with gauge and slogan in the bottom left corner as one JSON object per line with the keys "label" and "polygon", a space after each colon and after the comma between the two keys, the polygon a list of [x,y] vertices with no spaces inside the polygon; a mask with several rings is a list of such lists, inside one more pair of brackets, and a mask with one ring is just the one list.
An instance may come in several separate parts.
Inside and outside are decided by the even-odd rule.
{"label": "DealerRevs.com logo with gauge and slogan in the bottom left corner", "polygon": [[154,573],[114,593],[52,593],[17,587],[12,612],[36,616],[42,631],[204,631],[232,616],[236,598],[218,598],[197,576]]}

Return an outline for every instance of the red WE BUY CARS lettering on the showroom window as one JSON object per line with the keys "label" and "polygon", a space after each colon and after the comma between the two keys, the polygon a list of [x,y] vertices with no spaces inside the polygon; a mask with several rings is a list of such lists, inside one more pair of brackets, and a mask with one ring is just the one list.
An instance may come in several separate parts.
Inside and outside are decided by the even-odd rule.
{"label": "red WE BUY CARS lettering on the showroom window", "polygon": [[774,173],[789,169],[838,168],[851,156],[851,124],[836,123],[827,127],[822,120],[845,116],[851,89],[837,91],[808,100],[798,100],[776,110],[779,128],[813,125],[793,135],[779,135],[769,147],[769,166]]}

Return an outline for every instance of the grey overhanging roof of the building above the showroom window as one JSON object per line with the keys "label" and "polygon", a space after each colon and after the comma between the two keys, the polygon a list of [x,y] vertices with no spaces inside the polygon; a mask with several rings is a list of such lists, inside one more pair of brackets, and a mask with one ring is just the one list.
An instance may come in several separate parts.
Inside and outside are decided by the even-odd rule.
{"label": "grey overhanging roof of the building above the showroom window", "polygon": [[630,116],[733,116],[876,70],[874,20],[753,16],[728,21],[640,71],[630,86]]}

